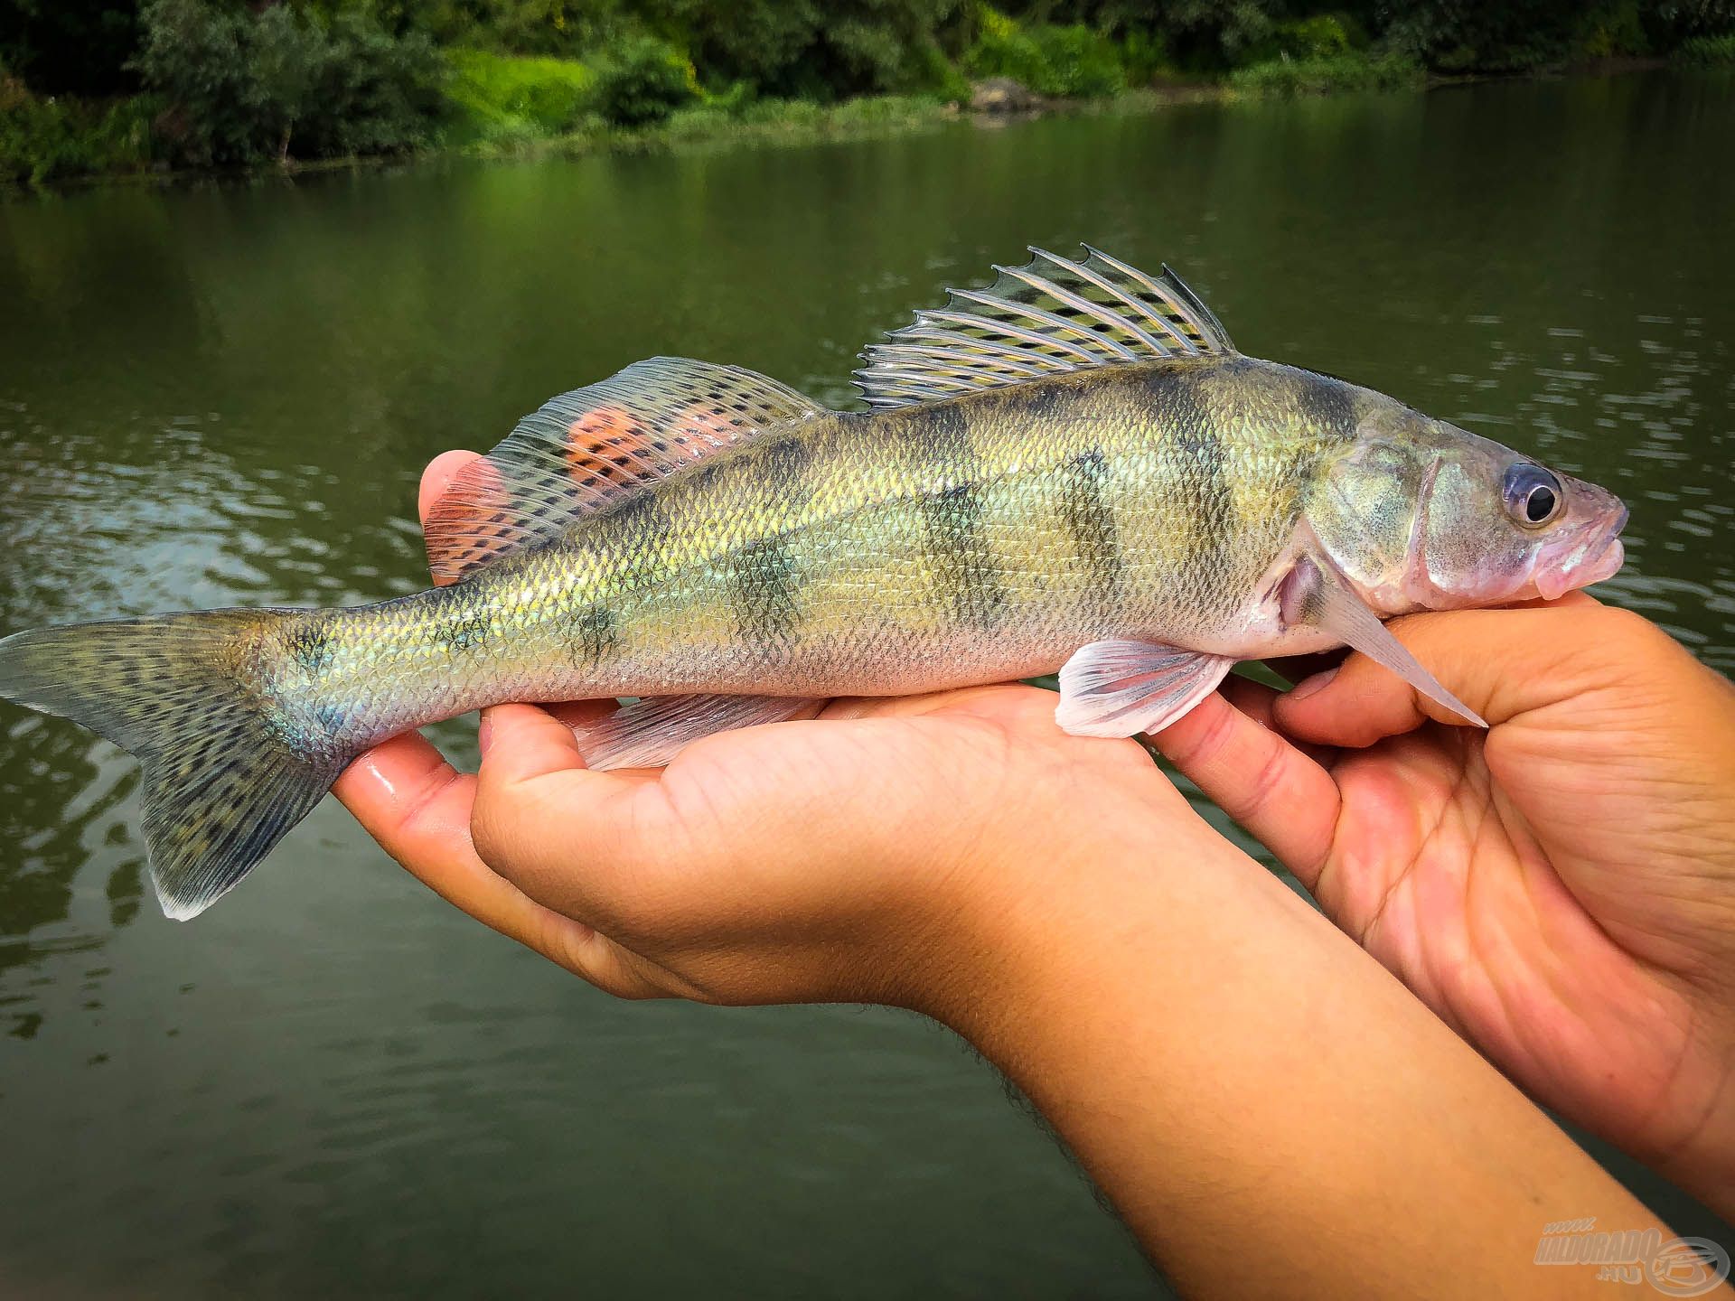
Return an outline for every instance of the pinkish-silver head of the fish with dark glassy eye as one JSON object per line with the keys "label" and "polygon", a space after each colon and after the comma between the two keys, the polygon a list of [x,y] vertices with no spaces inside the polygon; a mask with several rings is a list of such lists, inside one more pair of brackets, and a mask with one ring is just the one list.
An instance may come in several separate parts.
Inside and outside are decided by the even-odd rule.
{"label": "pinkish-silver head of the fish with dark glassy eye", "polygon": [[1614,493],[1407,408],[1322,468],[1308,522],[1379,614],[1503,605],[1615,574]]}

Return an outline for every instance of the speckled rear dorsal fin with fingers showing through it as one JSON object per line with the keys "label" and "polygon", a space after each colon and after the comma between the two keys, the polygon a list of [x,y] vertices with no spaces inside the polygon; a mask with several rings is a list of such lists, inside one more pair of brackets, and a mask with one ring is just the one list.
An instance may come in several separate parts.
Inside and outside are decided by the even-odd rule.
{"label": "speckled rear dorsal fin with fingers showing through it", "polygon": [[751,434],[822,411],[763,375],[685,357],[637,361],[560,394],[434,503],[434,581],[455,583]]}

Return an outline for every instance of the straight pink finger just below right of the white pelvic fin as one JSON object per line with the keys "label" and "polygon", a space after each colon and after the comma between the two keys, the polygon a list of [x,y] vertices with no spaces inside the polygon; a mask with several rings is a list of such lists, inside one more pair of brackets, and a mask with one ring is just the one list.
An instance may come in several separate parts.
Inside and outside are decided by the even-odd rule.
{"label": "straight pink finger just below right of the white pelvic fin", "polygon": [[[1260,711],[1277,697],[1254,682],[1232,690]],[[1220,694],[1150,741],[1301,885],[1313,888],[1338,826],[1338,784],[1326,768]]]}

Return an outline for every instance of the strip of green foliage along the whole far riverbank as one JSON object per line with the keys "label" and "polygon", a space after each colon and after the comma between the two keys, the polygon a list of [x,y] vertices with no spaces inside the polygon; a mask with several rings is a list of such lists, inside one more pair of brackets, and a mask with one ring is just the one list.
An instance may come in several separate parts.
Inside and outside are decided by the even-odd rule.
{"label": "strip of green foliage along the whole far riverbank", "polygon": [[[699,134],[1157,80],[1385,88],[1726,62],[1735,0],[0,0],[0,179]],[[7,75],[5,69],[10,69]]]}

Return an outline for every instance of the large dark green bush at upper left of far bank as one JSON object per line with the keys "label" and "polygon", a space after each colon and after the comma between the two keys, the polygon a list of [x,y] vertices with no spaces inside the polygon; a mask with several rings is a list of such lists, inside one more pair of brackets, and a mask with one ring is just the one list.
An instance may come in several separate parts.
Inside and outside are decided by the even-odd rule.
{"label": "large dark green bush at upper left of far bank", "polygon": [[170,104],[158,130],[196,167],[422,144],[444,66],[427,36],[392,36],[361,12],[328,24],[290,5],[259,17],[203,0],[147,0],[135,61]]}

